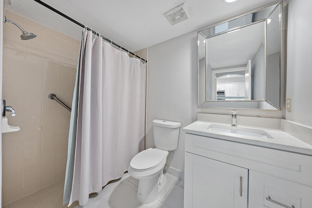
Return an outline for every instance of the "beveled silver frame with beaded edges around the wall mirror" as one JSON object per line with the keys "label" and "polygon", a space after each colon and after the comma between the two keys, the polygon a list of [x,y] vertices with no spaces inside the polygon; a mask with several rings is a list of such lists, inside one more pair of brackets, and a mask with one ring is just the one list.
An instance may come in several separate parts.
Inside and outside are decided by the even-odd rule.
{"label": "beveled silver frame with beaded edges around the wall mirror", "polygon": [[[270,15],[278,8],[278,6],[280,6],[280,90],[279,90],[279,94],[280,94],[280,101],[279,101],[279,106],[277,106],[276,104],[273,104],[272,102],[267,100],[267,19],[268,17],[270,17]],[[272,10],[270,10],[270,13],[268,16],[266,16],[263,19],[259,19],[255,22],[251,22],[245,25],[241,25],[239,27],[235,27],[235,28],[231,28],[229,30],[226,30],[224,32],[220,32],[218,34],[212,34],[210,30],[214,30],[215,26],[218,26],[220,24],[235,20],[239,17],[244,17],[246,15],[250,15],[250,14],[254,14],[257,13],[261,10],[265,10],[268,8],[272,8]],[[250,12],[241,14],[239,16],[236,17],[232,17],[229,19],[226,19],[224,21],[218,22],[216,24],[213,24],[203,30],[200,30],[197,32],[197,41],[199,41],[199,38],[208,38],[208,37],[213,37],[216,35],[222,35],[243,27],[247,27],[249,25],[253,25],[259,22],[265,21],[265,100],[239,100],[239,101],[234,101],[234,100],[229,100],[229,101],[224,101],[224,100],[207,100],[207,44],[206,44],[206,50],[205,50],[205,68],[206,68],[206,74],[205,74],[205,89],[203,89],[202,85],[200,85],[200,71],[199,71],[199,47],[197,50],[197,107],[198,108],[209,108],[209,109],[245,109],[245,110],[271,110],[271,111],[281,111],[283,108],[283,2],[282,1],[277,1],[277,2],[273,2],[271,4],[265,5],[263,7],[260,7],[258,9],[254,9]],[[203,32],[208,33],[208,34],[212,34],[212,35],[203,35]],[[207,41],[206,41],[207,42]],[[203,78],[201,77],[201,80],[203,81]],[[205,91],[204,95],[203,95],[203,91]],[[205,96],[205,98],[203,98],[203,96]],[[201,99],[200,99],[201,98]],[[201,101],[200,101],[201,100]],[[203,102],[202,102],[203,101]],[[264,105],[265,107],[259,108],[258,106],[260,105]]]}

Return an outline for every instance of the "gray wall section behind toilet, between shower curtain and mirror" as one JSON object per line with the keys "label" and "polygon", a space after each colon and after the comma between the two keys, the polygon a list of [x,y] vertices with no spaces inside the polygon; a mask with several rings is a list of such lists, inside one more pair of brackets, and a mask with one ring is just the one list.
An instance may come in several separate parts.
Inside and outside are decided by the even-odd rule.
{"label": "gray wall section behind toilet, between shower curtain and mirror", "polygon": [[167,165],[184,172],[182,128],[197,118],[196,32],[149,47],[147,86],[146,148],[154,147],[154,119],[181,122],[178,147]]}

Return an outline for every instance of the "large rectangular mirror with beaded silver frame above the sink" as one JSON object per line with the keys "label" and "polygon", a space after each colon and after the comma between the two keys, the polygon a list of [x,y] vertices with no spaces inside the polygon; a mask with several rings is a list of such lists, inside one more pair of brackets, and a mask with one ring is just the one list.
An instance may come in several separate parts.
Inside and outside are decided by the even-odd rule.
{"label": "large rectangular mirror with beaded silver frame above the sink", "polygon": [[198,108],[282,110],[282,1],[197,32]]}

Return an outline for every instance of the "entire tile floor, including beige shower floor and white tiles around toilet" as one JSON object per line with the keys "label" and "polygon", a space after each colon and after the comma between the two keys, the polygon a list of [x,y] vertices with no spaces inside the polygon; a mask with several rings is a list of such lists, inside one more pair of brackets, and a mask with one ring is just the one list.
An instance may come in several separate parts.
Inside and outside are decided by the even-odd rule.
{"label": "entire tile floor, including beige shower floor and white tiles around toilet", "polygon": [[[183,208],[184,181],[165,173],[168,181],[157,199],[147,205],[137,202],[138,180],[125,173],[117,182],[108,184],[84,206],[74,202],[70,208]],[[63,182],[57,182],[2,208],[67,208],[62,206]]]}

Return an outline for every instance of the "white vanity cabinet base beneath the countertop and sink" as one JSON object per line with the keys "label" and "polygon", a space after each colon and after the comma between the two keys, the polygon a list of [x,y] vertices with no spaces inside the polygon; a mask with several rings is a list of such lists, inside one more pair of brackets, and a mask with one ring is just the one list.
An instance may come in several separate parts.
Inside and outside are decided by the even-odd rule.
{"label": "white vanity cabinet base beneath the countertop and sink", "polygon": [[312,156],[187,133],[184,207],[312,208]]}

